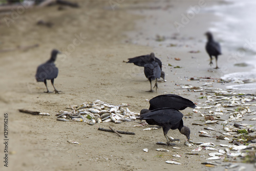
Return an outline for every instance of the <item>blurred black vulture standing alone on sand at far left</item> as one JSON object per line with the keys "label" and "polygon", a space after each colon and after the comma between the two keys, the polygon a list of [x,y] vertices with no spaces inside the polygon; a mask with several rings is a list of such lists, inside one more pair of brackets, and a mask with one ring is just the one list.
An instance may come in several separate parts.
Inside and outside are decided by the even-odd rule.
{"label": "blurred black vulture standing alone on sand at far left", "polygon": [[55,66],[54,61],[56,60],[58,53],[60,53],[58,50],[52,50],[51,58],[37,67],[35,78],[38,82],[45,83],[47,89],[45,93],[51,93],[47,87],[47,79],[51,80],[55,93],[61,92],[57,91],[54,87],[54,79],[58,76],[58,68]]}

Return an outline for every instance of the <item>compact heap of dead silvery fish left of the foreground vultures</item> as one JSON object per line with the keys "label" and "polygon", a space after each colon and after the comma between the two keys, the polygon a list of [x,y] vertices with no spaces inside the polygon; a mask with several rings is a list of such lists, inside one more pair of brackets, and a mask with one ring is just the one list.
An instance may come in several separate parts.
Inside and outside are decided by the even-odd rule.
{"label": "compact heap of dead silvery fish left of the foreground vultures", "polygon": [[59,111],[56,116],[58,121],[80,121],[90,125],[96,122],[112,121],[121,123],[137,119],[140,114],[131,112],[126,106],[129,106],[129,104],[114,105],[101,100],[95,100],[93,102],[84,102],[81,105],[71,105],[66,108],[72,110],[71,112]]}

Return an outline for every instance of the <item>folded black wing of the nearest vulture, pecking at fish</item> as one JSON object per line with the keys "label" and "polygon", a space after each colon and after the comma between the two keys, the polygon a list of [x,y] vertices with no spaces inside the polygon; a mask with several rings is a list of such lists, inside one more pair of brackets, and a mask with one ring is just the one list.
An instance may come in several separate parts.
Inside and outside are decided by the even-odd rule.
{"label": "folded black wing of the nearest vulture, pecking at fish", "polygon": [[162,123],[176,124],[180,122],[180,120],[182,120],[182,117],[183,114],[181,112],[172,108],[156,109],[140,115],[141,120],[153,119],[156,123],[159,123],[160,125]]}

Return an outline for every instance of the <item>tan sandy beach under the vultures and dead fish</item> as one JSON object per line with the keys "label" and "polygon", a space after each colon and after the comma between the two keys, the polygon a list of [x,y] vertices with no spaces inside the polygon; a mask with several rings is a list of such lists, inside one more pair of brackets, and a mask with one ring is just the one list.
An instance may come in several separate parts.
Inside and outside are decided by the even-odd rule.
{"label": "tan sandy beach under the vultures and dead fish", "polygon": [[[252,66],[233,67],[237,61],[227,63],[229,52],[225,48],[224,55],[218,60],[221,69],[214,70],[208,65],[209,57],[204,49],[206,37],[203,35],[207,25],[200,22],[207,23],[207,16],[196,15],[177,33],[173,23],[180,21],[181,13],[186,14],[190,5],[197,5],[195,2],[123,1],[116,4],[114,10],[109,1],[78,3],[81,7],[77,9],[65,7],[58,10],[58,6],[27,9],[9,27],[3,18],[10,15],[0,16],[0,51],[7,50],[0,52],[0,125],[4,123],[4,114],[8,113],[9,134],[9,164],[5,167],[2,162],[4,144],[1,143],[1,170],[224,170],[228,164],[237,164],[228,161],[238,161],[239,164],[228,170],[241,167],[255,170],[253,164],[242,163],[239,158],[228,158],[226,162],[221,159],[218,166],[206,167],[200,163],[206,161],[209,152],[184,154],[197,146],[185,146],[186,137],[178,130],[170,130],[168,135],[181,140],[176,142],[180,149],[157,145],[157,141],[166,141],[162,129],[142,131],[149,126],[134,127],[139,125],[139,120],[94,125],[57,121],[55,114],[58,111],[96,99],[116,105],[128,103],[129,110],[137,113],[149,107],[148,99],[161,94],[177,94],[198,106],[208,105],[206,98],[201,97],[213,96],[214,93],[205,90],[193,92],[182,87],[187,84],[200,87],[210,82],[203,89],[225,90],[226,86],[235,83],[223,82],[221,76],[252,69]],[[214,2],[207,2],[207,5],[210,3]],[[51,22],[53,26],[36,25],[38,20]],[[164,41],[156,41],[157,35],[164,37]],[[34,45],[39,46],[23,49]],[[37,66],[49,59],[52,49],[62,52],[55,62],[59,75],[54,82],[56,89],[62,91],[60,94],[44,93],[44,83],[35,80]],[[153,93],[146,92],[150,90],[150,83],[143,68],[123,62],[151,52],[161,59],[167,80],[159,82],[158,91]],[[206,78],[211,79],[204,81]],[[50,81],[48,88],[53,91]],[[255,94],[255,91],[237,92]],[[51,116],[33,116],[20,113],[18,109],[47,112]],[[249,109],[253,111],[256,107],[249,106]],[[198,110],[204,115],[209,113],[209,109]],[[213,137],[199,137],[198,131],[203,130],[203,126],[191,123],[203,122],[204,117],[190,108],[181,112],[184,124],[190,127],[191,140],[216,145],[229,143],[216,139],[220,132],[224,132],[223,121],[209,125],[219,131],[211,132]],[[255,125],[255,121],[249,120],[254,117],[246,115],[245,120],[238,123]],[[229,116],[221,118],[227,120]],[[109,126],[136,135],[118,137],[114,133],[98,131],[98,127],[107,129]],[[4,141],[3,127],[0,135]],[[231,141],[232,137],[229,139]],[[72,144],[68,140],[80,144]],[[143,148],[148,148],[148,153]],[[156,148],[166,148],[170,152],[158,152]],[[181,158],[172,156],[176,154]],[[177,159],[181,165],[165,163],[171,159]]]}

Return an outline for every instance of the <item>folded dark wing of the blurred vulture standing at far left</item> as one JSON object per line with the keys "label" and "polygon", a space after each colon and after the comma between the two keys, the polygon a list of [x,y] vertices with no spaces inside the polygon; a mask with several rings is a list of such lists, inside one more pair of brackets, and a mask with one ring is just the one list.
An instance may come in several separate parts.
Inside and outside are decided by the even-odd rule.
{"label": "folded dark wing of the blurred vulture standing at far left", "polygon": [[37,81],[44,81],[45,79],[53,79],[58,76],[58,68],[54,63],[43,63],[38,66],[35,78]]}

